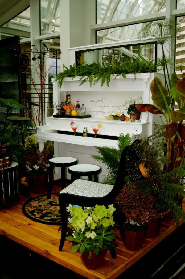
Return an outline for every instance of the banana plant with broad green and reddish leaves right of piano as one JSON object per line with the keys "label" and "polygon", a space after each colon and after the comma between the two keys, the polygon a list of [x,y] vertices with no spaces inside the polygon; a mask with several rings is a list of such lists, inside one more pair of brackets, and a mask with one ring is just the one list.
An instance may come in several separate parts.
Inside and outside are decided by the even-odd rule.
{"label": "banana plant with broad green and reddish leaves right of piano", "polygon": [[[154,104],[138,104],[135,107],[142,112],[162,114],[166,119],[165,136],[167,139],[166,171],[172,171],[182,165],[185,154],[185,73],[177,78],[171,75],[170,87],[165,87],[160,78],[155,77],[150,85]],[[179,109],[175,110],[175,102]]]}

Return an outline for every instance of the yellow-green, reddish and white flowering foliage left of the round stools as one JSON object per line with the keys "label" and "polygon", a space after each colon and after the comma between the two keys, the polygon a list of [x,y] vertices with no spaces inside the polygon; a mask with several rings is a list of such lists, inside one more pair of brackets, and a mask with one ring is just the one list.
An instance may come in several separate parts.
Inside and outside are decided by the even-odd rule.
{"label": "yellow-green, reddish and white flowering foliage left of the round stools", "polygon": [[26,137],[22,146],[22,166],[27,175],[39,176],[49,172],[49,159],[53,155],[53,144],[51,141],[44,143],[44,149],[39,150],[39,143],[35,135]]}

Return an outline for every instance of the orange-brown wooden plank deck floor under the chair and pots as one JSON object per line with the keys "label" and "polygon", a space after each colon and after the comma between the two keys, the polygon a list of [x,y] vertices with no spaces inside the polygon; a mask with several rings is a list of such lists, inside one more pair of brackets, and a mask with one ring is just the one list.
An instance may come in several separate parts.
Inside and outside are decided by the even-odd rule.
{"label": "orange-brown wooden plank deck floor under the chair and pots", "polygon": [[[54,191],[59,192],[60,188],[55,186]],[[108,251],[101,268],[88,270],[82,264],[78,252],[70,253],[72,244],[68,241],[65,241],[63,251],[58,251],[60,242],[58,226],[40,224],[23,215],[22,205],[25,201],[27,198],[21,196],[17,203],[0,205],[0,234],[86,278],[117,278],[176,229],[172,221],[162,222],[160,235],[155,239],[146,239],[142,249],[136,252],[125,248],[117,231],[117,258],[112,259]]]}

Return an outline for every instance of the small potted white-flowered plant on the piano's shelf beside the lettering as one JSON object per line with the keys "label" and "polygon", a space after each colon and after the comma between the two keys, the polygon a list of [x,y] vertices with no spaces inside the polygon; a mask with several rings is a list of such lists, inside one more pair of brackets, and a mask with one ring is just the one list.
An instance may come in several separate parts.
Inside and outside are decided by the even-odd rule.
{"label": "small potted white-flowered plant on the piano's shelf beside the lettering", "polygon": [[127,109],[127,114],[130,116],[134,116],[135,120],[139,120],[141,116],[141,111],[138,110],[135,105],[136,104],[142,104],[142,96],[138,96],[137,98],[128,98],[125,100],[125,103],[123,104],[124,107]]}

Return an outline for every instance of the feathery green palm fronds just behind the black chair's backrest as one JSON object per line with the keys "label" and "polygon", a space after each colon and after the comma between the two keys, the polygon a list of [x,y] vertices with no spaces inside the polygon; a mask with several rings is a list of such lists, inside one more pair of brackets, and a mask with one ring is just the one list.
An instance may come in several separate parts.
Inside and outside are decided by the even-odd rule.
{"label": "feathery green palm fronds just behind the black chair's backrest", "polygon": [[100,155],[92,155],[91,157],[107,166],[107,170],[109,171],[109,181],[115,181],[121,154],[124,148],[131,144],[132,138],[130,137],[130,134],[127,133],[124,136],[121,133],[118,138],[118,149],[109,146],[95,146]]}

